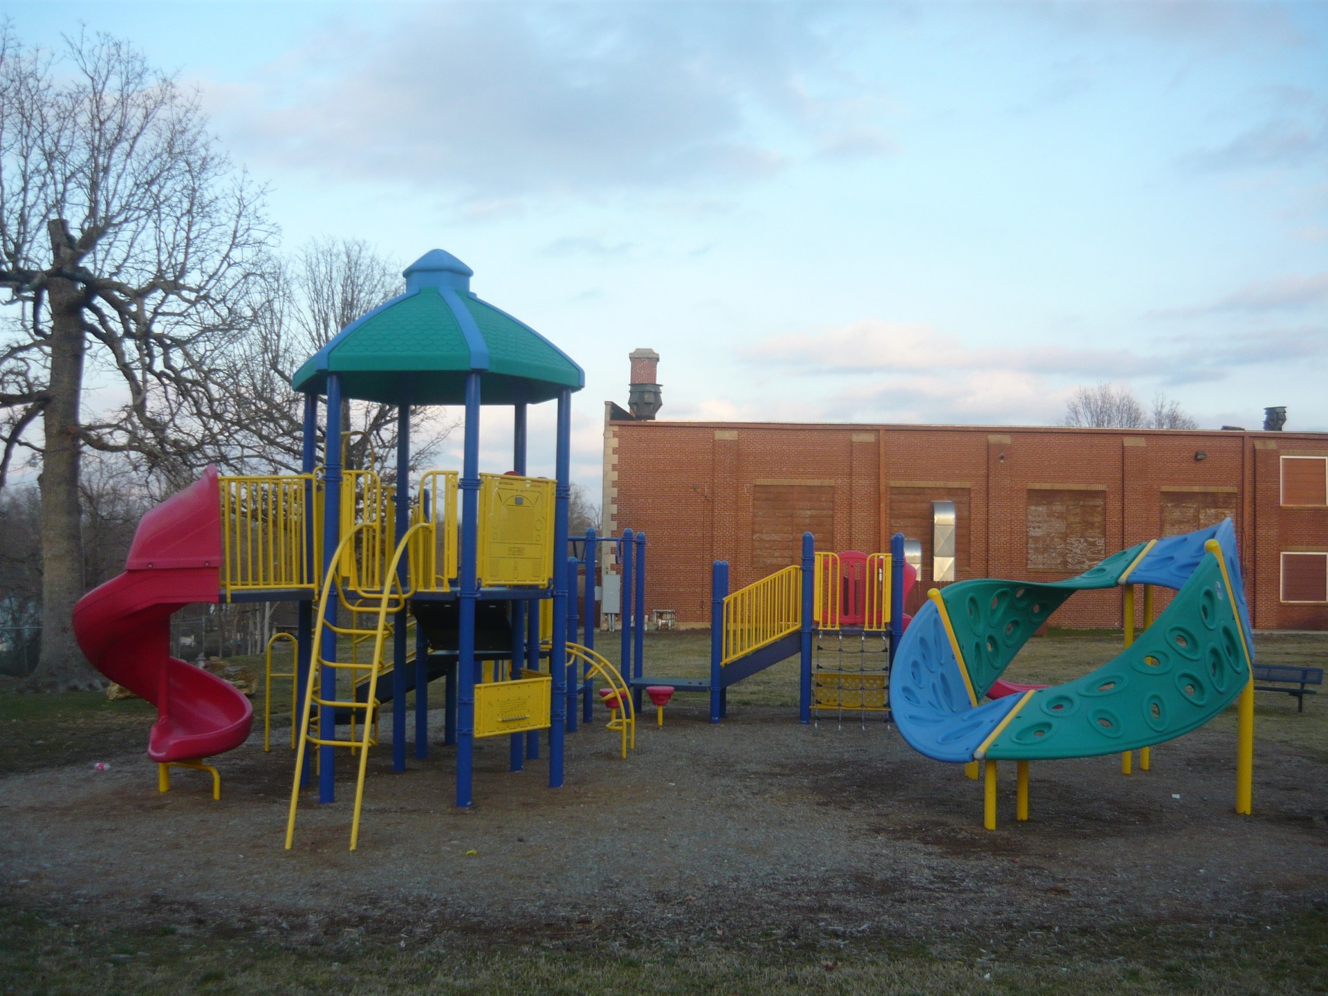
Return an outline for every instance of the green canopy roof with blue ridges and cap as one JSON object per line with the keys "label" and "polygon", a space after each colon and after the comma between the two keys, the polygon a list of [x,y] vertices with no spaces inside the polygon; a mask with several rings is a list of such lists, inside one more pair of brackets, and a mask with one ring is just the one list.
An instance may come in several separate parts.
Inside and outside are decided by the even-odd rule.
{"label": "green canopy roof with blue ridges and cap", "polygon": [[463,404],[471,371],[486,405],[537,404],[586,386],[558,347],[471,293],[473,274],[450,252],[426,252],[406,268],[406,292],[341,329],[292,386],[321,394],[336,373],[344,397],[389,405]]}

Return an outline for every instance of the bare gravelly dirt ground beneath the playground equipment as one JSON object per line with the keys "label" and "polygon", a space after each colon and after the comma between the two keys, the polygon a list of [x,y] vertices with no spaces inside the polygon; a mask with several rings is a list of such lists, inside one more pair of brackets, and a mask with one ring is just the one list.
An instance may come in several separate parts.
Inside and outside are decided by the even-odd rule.
{"label": "bare gravelly dirt ground beneath the playground equipment", "polygon": [[[1275,699],[1279,724],[1321,725],[1328,708],[1311,700],[1297,716]],[[20,906],[72,916],[402,947],[448,935],[971,940],[1328,902],[1323,758],[1260,740],[1255,811],[1236,817],[1232,729],[1155,748],[1153,770],[1129,777],[1118,757],[1035,764],[1027,823],[1013,819],[1011,766],[1001,825],[985,831],[980,784],[880,721],[809,728],[785,706],[736,705],[713,726],[692,696],[663,729],[643,721],[627,761],[603,718],[568,736],[559,790],[546,761],[513,774],[506,740],[481,741],[469,811],[453,806],[450,748],[404,773],[380,748],[353,854],[344,753],[339,801],[307,793],[286,851],[292,754],[264,754],[262,729],[218,760],[219,802],[202,774],[177,773],[162,795],[141,749],[89,744],[81,762],[0,777],[0,883]]]}

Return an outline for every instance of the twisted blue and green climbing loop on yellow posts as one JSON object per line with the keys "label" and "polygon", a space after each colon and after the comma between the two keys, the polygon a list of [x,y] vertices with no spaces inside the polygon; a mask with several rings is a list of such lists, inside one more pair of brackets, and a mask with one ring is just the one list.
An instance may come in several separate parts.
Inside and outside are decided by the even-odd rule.
{"label": "twisted blue and green climbing loop on yellow posts", "polygon": [[[1134,639],[1134,586],[1145,629]],[[1126,648],[1050,688],[997,687],[1019,649],[1076,591],[1125,588]],[[1175,598],[1153,620],[1153,586]],[[1139,543],[1062,582],[972,579],[932,590],[904,635],[890,695],[900,734],[938,761],[980,764],[984,826],[996,829],[997,761],[1017,765],[1017,819],[1028,818],[1029,761],[1122,754],[1190,733],[1239,699],[1236,813],[1251,811],[1254,643],[1235,529]],[[984,695],[996,693],[987,703]],[[1145,753],[1142,766],[1150,768]],[[976,772],[972,772],[976,777]]]}

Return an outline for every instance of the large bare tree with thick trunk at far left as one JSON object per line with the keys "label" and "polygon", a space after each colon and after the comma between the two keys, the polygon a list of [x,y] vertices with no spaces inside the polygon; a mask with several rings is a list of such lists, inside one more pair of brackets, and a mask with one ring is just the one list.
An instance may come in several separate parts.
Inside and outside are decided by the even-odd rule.
{"label": "large bare tree with thick trunk at far left", "polygon": [[[80,33],[50,53],[0,27],[4,454],[41,454],[33,687],[98,684],[70,628],[81,449],[134,454],[175,485],[215,452],[219,374],[274,238],[262,191],[218,150],[197,98],[137,49]],[[86,371],[126,396],[92,421]]]}

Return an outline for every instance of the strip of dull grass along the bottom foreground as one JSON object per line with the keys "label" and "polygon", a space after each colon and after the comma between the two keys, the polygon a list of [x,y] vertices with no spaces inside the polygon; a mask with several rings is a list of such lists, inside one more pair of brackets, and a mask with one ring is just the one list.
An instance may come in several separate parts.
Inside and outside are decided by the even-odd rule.
{"label": "strip of dull grass along the bottom foreground", "polygon": [[[61,993],[1267,993],[1328,991],[1328,915],[1268,924],[1033,931],[1005,942],[572,943],[490,934],[283,940],[122,930],[0,906],[0,992]],[[402,943],[404,942],[404,943]]]}

